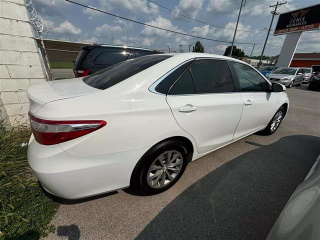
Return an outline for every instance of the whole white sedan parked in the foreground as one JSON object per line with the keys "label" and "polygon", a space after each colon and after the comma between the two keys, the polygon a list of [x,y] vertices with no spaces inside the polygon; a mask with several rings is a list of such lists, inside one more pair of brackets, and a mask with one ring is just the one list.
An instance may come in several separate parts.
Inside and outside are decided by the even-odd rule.
{"label": "whole white sedan parked in the foreground", "polygon": [[131,188],[156,194],[186,165],[257,131],[288,110],[281,84],[247,63],[205,53],[126,60],[84,78],[28,89],[28,162],[64,198]]}

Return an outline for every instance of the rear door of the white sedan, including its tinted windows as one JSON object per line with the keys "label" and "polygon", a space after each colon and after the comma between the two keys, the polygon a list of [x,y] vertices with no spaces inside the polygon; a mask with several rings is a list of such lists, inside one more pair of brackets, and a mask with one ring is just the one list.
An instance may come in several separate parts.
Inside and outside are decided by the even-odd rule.
{"label": "rear door of the white sedan, including its tinted windows", "polygon": [[199,153],[231,142],[243,103],[227,61],[196,59],[171,86],[166,100]]}

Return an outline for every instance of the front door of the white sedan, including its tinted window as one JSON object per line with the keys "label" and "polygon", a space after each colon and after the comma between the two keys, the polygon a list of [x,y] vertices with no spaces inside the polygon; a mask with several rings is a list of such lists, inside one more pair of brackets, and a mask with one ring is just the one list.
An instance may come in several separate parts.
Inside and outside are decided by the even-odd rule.
{"label": "front door of the white sedan, including its tinted window", "polygon": [[277,110],[275,92],[269,91],[269,83],[253,68],[232,62],[240,85],[243,100],[241,119],[234,132],[233,140],[264,127]]}

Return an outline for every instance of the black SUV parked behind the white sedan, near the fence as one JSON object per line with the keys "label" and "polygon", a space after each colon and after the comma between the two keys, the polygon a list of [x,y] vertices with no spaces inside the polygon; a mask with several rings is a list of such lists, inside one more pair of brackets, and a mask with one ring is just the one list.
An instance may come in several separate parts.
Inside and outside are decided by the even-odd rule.
{"label": "black SUV parked behind the white sedan, near the fence", "polygon": [[86,76],[124,60],[156,53],[162,52],[133,46],[82,46],[81,51],[75,59],[73,71],[75,77]]}

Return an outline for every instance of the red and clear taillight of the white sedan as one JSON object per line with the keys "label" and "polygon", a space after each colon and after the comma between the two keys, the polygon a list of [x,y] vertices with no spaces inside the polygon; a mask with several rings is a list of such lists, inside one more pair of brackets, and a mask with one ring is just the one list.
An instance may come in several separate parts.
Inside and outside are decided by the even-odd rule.
{"label": "red and clear taillight of the white sedan", "polygon": [[29,113],[35,140],[44,145],[58,144],[83,136],[106,125],[103,120],[44,120]]}

